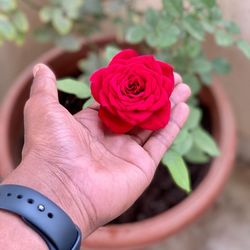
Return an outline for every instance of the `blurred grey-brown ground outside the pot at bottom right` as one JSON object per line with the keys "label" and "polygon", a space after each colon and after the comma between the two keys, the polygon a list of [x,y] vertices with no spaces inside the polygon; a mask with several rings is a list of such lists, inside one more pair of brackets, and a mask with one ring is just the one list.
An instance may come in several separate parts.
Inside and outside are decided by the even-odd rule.
{"label": "blurred grey-brown ground outside the pot at bottom right", "polygon": [[238,162],[217,202],[184,231],[145,250],[249,250],[250,164]]}

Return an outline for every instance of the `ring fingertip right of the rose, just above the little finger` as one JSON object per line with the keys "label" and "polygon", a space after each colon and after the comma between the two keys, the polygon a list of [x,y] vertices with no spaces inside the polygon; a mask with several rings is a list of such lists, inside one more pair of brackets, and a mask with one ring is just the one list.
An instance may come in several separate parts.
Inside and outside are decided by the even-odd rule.
{"label": "ring fingertip right of the rose, just above the little finger", "polygon": [[185,83],[178,84],[170,96],[171,108],[174,108],[180,102],[185,102],[191,95],[189,86]]}

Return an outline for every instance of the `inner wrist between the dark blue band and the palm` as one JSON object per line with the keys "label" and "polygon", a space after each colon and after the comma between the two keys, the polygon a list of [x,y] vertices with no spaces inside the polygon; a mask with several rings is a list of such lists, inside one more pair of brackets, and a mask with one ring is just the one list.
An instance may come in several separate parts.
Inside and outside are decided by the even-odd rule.
{"label": "inner wrist between the dark blue band and the palm", "polygon": [[93,231],[88,209],[83,205],[76,185],[61,171],[64,167],[28,156],[3,184],[19,184],[42,193],[61,207],[86,237]]}

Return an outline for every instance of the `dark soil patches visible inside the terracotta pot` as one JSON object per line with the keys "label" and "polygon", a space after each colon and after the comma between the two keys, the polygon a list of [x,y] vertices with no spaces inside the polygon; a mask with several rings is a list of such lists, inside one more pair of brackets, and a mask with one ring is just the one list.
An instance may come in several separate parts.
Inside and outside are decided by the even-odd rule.
{"label": "dark soil patches visible inside the terracotta pot", "polygon": [[[60,103],[66,107],[72,114],[82,109],[84,101],[79,100],[74,95],[60,92]],[[204,111],[203,126],[211,131],[211,120],[206,107],[202,107]],[[209,170],[210,164],[189,164],[188,168],[191,176],[192,190],[194,190]],[[125,213],[113,220],[112,224],[128,223],[144,220],[146,218],[164,212],[176,205],[187,197],[187,194],[176,187],[173,183],[166,167],[160,164],[152,183],[141,195],[141,197],[130,207]]]}

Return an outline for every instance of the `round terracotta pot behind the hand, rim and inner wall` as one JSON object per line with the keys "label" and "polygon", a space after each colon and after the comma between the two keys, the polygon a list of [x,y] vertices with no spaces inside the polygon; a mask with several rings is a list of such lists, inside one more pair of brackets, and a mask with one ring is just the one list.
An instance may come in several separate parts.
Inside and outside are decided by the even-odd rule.
{"label": "round terracotta pot behind the hand, rim and inner wall", "polygon": [[[55,49],[37,62],[48,64],[57,77],[78,74],[77,61],[86,56],[93,44],[104,46],[111,38],[83,42],[81,51],[66,53]],[[22,110],[28,98],[32,80],[32,64],[14,83],[2,105],[0,124],[0,175],[9,174],[20,161],[23,135]],[[234,118],[228,99],[219,83],[214,82],[201,94],[202,102],[212,117],[212,131],[217,139],[221,155],[211,163],[201,184],[179,205],[142,222],[106,226],[98,229],[84,243],[91,249],[128,249],[143,247],[160,241],[200,216],[215,200],[231,172],[236,146]],[[18,150],[19,148],[19,150]]]}

